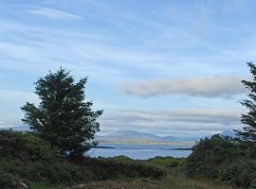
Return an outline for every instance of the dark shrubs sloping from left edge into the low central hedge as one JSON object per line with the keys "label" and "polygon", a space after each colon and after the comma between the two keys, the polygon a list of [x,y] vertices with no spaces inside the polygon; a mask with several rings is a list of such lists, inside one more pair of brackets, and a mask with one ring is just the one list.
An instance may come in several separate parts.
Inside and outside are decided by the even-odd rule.
{"label": "dark shrubs sloping from left edge into the low central hedge", "polygon": [[57,148],[32,133],[0,130],[1,189],[32,182],[74,184],[115,178],[159,179],[165,174],[162,167],[124,157],[67,160]]}

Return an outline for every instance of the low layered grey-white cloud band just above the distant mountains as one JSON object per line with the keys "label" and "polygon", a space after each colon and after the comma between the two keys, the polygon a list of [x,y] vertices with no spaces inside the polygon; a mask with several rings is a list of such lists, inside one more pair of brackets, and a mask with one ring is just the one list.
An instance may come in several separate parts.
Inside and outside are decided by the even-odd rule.
{"label": "low layered grey-white cloud band just above the distant mountains", "polygon": [[[227,129],[240,129],[240,113],[232,110],[171,110],[171,111],[119,111],[103,114],[104,130],[151,130],[174,134],[178,132],[217,133]],[[185,135],[185,134],[184,134]]]}

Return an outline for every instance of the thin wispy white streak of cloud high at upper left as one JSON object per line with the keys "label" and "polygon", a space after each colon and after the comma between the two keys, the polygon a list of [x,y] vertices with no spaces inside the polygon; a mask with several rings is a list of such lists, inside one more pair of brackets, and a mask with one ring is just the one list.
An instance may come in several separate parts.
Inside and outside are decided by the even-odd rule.
{"label": "thin wispy white streak of cloud high at upper left", "polygon": [[31,14],[36,14],[40,16],[45,16],[47,18],[56,19],[56,20],[81,20],[82,16],[78,16],[75,14],[71,14],[65,11],[57,10],[57,9],[47,9],[47,8],[36,8],[36,9],[27,9],[27,12]]}

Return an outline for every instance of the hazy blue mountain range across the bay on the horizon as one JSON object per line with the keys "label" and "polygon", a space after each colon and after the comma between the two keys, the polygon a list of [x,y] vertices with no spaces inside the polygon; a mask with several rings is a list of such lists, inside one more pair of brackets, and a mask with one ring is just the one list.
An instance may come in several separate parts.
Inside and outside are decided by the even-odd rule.
{"label": "hazy blue mountain range across the bay on the horizon", "polygon": [[174,136],[160,137],[152,133],[138,132],[135,130],[119,130],[104,136],[96,136],[99,142],[134,142],[134,141],[149,141],[149,142],[194,142],[195,138],[177,138]]}

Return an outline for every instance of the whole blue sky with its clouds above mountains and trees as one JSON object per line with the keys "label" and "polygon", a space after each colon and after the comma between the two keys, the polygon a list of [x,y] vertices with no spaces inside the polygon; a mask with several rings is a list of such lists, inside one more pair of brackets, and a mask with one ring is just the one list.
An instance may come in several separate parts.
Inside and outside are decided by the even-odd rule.
{"label": "whole blue sky with its clouds above mountains and trees", "polygon": [[34,82],[89,77],[101,133],[207,136],[240,129],[256,60],[253,0],[0,1],[0,128],[21,126]]}

